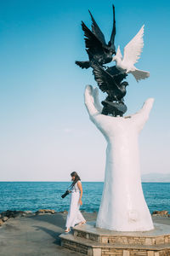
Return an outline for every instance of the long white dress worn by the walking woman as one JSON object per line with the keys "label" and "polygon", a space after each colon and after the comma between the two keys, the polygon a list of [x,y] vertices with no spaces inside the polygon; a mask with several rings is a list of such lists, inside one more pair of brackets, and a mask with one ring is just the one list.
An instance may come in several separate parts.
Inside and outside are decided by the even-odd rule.
{"label": "long white dress worn by the walking woman", "polygon": [[[77,182],[81,183],[80,180]],[[74,227],[75,224],[85,221],[85,218],[83,218],[82,213],[79,210],[80,204],[78,203],[78,200],[80,198],[80,189],[78,189],[77,183],[72,187],[70,196],[70,208],[65,224],[65,227],[68,229]]]}

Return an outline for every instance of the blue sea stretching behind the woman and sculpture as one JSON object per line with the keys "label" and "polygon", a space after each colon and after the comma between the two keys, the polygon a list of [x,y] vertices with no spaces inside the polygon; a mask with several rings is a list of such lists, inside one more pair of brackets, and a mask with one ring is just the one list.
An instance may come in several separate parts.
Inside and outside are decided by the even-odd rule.
{"label": "blue sea stretching behind the woman and sculpture", "polygon": [[[0,212],[6,210],[37,211],[41,208],[56,212],[69,209],[69,196],[61,195],[70,182],[0,182]],[[103,184],[82,182],[83,195],[81,210],[99,211]],[[170,183],[142,183],[144,197],[150,212],[170,212]]]}

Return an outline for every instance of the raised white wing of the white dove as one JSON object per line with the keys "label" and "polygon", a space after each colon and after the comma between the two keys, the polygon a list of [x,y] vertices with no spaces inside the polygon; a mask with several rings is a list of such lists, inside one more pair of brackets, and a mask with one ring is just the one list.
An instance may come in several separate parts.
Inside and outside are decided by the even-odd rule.
{"label": "raised white wing of the white dove", "polygon": [[136,36],[125,46],[124,56],[122,64],[127,65],[127,63],[133,65],[139,60],[140,54],[144,47],[144,25],[140,28]]}

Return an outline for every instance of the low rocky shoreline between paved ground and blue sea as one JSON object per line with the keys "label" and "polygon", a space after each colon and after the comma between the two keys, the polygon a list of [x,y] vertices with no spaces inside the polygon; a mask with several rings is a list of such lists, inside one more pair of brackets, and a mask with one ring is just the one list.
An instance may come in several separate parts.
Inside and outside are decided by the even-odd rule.
{"label": "low rocky shoreline between paved ground and blue sea", "polygon": [[[85,211],[82,210],[81,212],[85,212]],[[55,213],[57,213],[57,212],[53,209],[39,209],[36,212],[7,210],[5,212],[0,213],[0,226],[2,226],[6,221],[8,221],[9,218],[30,217],[33,215],[55,214]],[[67,214],[68,212],[65,210],[60,213]],[[164,211],[154,211],[151,213],[151,215],[170,218],[170,214],[168,214],[168,211],[165,211],[165,210]]]}

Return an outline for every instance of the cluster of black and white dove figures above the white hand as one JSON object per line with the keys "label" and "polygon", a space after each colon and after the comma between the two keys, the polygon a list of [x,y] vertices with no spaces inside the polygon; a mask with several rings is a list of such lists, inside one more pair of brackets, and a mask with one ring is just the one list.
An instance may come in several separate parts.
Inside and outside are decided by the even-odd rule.
{"label": "cluster of black and white dove figures above the white hand", "polygon": [[[85,36],[84,39],[89,61],[75,62],[79,67],[93,68],[94,79],[99,85],[99,89],[108,94],[105,101],[101,102],[104,106],[101,113],[116,117],[123,116],[127,111],[127,106],[123,99],[127,93],[126,87],[128,83],[123,81],[123,79],[126,79],[127,73],[132,73],[137,82],[140,79],[148,78],[150,73],[134,67],[144,46],[144,26],[141,27],[137,35],[124,48],[123,59],[120,46],[118,46],[116,51],[114,44],[116,36],[115,7],[114,5],[112,6],[113,29],[111,32],[111,40],[108,44],[105,43],[105,36],[89,11],[92,19],[92,31],[90,31],[88,26],[82,21],[82,31]],[[112,57],[113,54],[115,54],[114,57]],[[111,61],[116,61],[116,67],[104,66],[104,64]]]}

